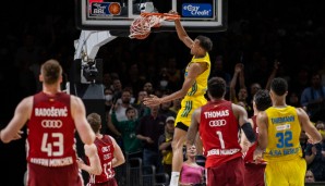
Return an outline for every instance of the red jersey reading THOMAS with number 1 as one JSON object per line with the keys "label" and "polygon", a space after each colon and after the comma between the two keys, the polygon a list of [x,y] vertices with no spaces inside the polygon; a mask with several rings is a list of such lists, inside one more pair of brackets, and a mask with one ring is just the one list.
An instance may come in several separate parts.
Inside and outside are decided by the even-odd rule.
{"label": "red jersey reading THOMAS with number 1", "polygon": [[240,127],[230,101],[209,101],[201,109],[200,135],[206,157],[205,168],[241,157]]}

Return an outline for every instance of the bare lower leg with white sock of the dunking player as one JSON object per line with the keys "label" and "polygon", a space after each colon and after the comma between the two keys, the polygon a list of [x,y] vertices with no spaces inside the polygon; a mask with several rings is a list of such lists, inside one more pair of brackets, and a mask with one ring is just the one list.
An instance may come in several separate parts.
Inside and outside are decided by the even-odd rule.
{"label": "bare lower leg with white sock of the dunking player", "polygon": [[174,128],[172,147],[172,171],[170,186],[178,186],[179,175],[183,163],[183,145],[186,138],[186,131],[179,127]]}

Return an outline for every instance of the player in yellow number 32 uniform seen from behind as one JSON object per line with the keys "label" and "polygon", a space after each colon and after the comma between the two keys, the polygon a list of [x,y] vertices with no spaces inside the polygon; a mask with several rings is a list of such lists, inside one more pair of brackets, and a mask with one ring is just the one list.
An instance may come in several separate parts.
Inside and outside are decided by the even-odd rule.
{"label": "player in yellow number 32 uniform seen from behind", "polygon": [[301,108],[287,106],[288,84],[284,78],[274,78],[270,84],[273,107],[257,114],[258,146],[254,158],[267,161],[265,185],[304,185],[305,160],[299,137],[301,131],[312,144],[322,140],[321,134]]}

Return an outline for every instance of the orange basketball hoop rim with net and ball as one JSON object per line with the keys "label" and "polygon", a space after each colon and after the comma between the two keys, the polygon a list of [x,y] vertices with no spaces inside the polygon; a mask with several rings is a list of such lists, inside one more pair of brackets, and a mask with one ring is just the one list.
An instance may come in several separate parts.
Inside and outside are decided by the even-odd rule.
{"label": "orange basketball hoop rim with net and ball", "polygon": [[145,39],[149,36],[152,27],[160,27],[162,21],[174,21],[179,20],[180,15],[170,13],[148,13],[142,12],[130,26],[131,39]]}

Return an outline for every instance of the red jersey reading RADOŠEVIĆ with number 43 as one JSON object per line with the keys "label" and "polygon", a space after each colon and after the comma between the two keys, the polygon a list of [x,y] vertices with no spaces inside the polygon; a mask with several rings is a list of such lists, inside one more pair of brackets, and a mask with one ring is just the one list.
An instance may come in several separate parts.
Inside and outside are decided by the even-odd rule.
{"label": "red jersey reading RADO\u0160EVI\u0106 with number 43", "polygon": [[75,163],[75,124],[71,116],[70,95],[38,92],[33,98],[27,122],[27,162],[43,166]]}

